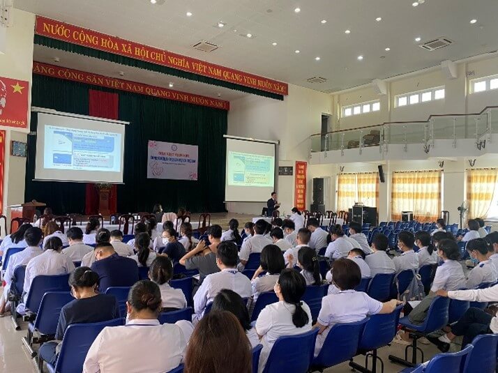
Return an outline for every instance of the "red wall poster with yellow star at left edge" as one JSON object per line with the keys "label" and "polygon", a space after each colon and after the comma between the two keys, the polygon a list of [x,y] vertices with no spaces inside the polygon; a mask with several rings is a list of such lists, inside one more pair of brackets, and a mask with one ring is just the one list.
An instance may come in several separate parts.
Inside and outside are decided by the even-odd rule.
{"label": "red wall poster with yellow star at left edge", "polygon": [[0,125],[28,127],[29,83],[0,77]]}

